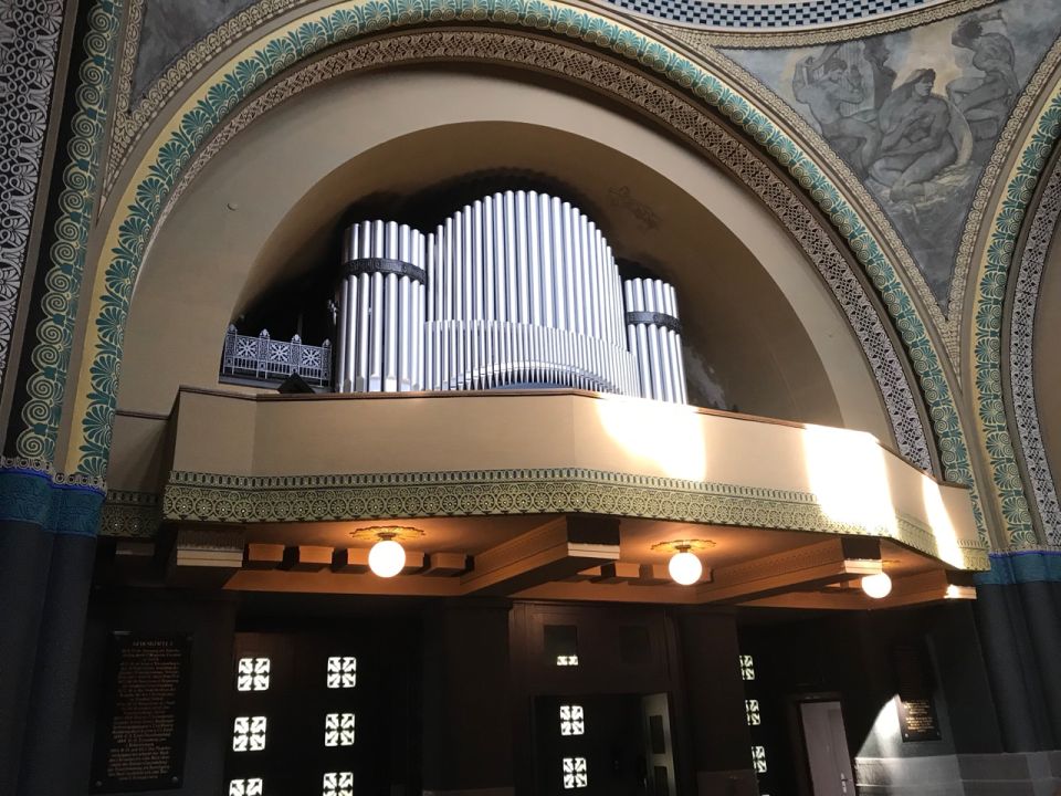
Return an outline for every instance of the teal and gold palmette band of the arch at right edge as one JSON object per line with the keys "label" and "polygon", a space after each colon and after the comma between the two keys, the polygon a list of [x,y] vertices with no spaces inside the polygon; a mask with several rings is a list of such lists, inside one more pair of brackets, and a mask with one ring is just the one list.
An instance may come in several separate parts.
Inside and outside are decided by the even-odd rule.
{"label": "teal and gold palmette band of the arch at right edge", "polygon": [[1002,391],[1001,329],[1006,286],[1028,206],[1061,133],[1061,85],[1055,85],[1019,147],[1006,187],[991,213],[989,235],[977,269],[976,295],[969,315],[973,377],[979,441],[990,467],[991,486],[1001,513],[1005,541],[1011,547],[1039,544],[1025,495],[1020,469],[1006,418]]}

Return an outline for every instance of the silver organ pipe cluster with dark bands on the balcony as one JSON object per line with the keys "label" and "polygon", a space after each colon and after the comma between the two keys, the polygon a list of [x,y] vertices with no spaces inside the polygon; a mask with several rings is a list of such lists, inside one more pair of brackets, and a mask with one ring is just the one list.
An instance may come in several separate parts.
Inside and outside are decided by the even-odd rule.
{"label": "silver organ pipe cluster with dark bands on the balcony", "polygon": [[674,289],[623,281],[597,224],[546,193],[487,196],[427,235],[353,224],[336,304],[337,392],[545,386],[686,400]]}

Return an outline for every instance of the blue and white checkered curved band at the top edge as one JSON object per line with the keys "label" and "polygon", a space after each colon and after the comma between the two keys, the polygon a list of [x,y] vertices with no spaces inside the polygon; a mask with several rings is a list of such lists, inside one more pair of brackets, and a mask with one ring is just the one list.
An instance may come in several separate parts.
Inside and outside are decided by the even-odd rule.
{"label": "blue and white checkered curved band at the top edge", "polygon": [[785,6],[703,2],[702,0],[609,0],[609,2],[627,11],[659,17],[671,22],[740,29],[786,29],[855,22],[928,4],[928,0],[811,0],[811,2]]}

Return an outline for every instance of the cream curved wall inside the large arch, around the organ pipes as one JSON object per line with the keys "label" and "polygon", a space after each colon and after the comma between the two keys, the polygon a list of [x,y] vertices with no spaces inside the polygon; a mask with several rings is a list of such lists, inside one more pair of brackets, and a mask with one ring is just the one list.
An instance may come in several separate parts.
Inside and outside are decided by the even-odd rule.
{"label": "cream curved wall inside the large arch, around the organ pipes", "polygon": [[[349,202],[508,165],[559,170],[597,200],[624,253],[670,265],[691,335],[742,411],[889,439],[844,318],[768,211],[659,130],[555,88],[410,70],[337,81],[260,119],[199,177],[147,256],[119,407],[167,411],[179,385],[216,385],[229,321],[285,270],[316,264],[315,241],[335,234]],[[620,186],[654,208],[656,230],[610,203]]]}

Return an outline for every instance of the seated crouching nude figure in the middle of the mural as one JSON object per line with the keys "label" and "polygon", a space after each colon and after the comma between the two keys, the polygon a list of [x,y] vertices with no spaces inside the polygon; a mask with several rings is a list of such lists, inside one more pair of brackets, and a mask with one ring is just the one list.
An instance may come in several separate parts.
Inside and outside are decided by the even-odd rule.
{"label": "seated crouching nude figure in the middle of the mural", "polygon": [[884,138],[870,174],[891,188],[893,201],[924,199],[927,182],[958,155],[950,134],[950,106],[932,93],[933,70],[917,70],[881,105]]}

